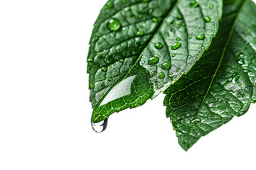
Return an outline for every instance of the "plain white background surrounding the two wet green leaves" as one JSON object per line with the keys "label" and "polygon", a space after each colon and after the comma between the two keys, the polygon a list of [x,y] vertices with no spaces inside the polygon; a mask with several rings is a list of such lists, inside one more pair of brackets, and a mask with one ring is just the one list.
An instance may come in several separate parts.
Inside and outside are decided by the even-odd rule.
{"label": "plain white background surrounding the two wet green leaves", "polygon": [[0,169],[256,169],[256,105],[188,152],[163,95],[92,131],[87,44],[105,2],[0,1]]}

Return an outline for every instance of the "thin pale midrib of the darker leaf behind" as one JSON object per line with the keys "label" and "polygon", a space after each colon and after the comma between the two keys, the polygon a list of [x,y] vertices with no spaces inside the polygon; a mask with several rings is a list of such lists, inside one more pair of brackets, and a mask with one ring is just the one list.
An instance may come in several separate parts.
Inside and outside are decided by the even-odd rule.
{"label": "thin pale midrib of the darker leaf behind", "polygon": [[[213,84],[213,80],[215,79],[215,76],[216,76],[216,74],[218,73],[218,70],[220,69],[220,65],[221,65],[221,63],[222,63],[222,61],[223,61],[223,57],[225,56],[225,52],[226,52],[226,50],[227,50],[227,48],[228,48],[228,45],[230,44],[230,40],[231,40],[231,38],[232,38],[232,36],[233,36],[233,33],[234,33],[234,31],[235,31],[235,28],[236,28],[236,25],[237,25],[237,23],[238,23],[238,18],[239,18],[239,16],[240,16],[240,13],[241,13],[242,9],[245,7],[245,4],[247,4],[248,1],[249,1],[249,0],[245,0],[245,1],[242,3],[242,6],[240,7],[240,9],[239,9],[239,11],[238,11],[238,15],[237,15],[236,18],[235,18],[235,21],[234,21],[234,23],[233,23],[233,26],[232,26],[232,28],[231,28],[231,30],[230,30],[230,34],[228,35],[228,40],[227,40],[227,42],[226,42],[226,44],[225,44],[225,47],[224,47],[224,49],[223,49],[223,53],[222,53],[222,55],[221,55],[221,57],[220,57],[220,62],[219,62],[219,64],[218,64],[218,67],[217,67],[217,69],[216,69],[216,71],[215,71],[215,74],[213,74],[213,79],[212,79],[212,81],[210,81],[210,85],[209,85],[209,87],[208,87],[208,91],[206,91],[206,95],[205,95],[205,97],[203,98],[203,101],[202,101],[202,103],[201,103],[201,106],[200,106],[200,108],[198,109],[198,112],[196,113],[196,117],[195,117],[193,120],[196,120],[196,118],[198,117],[198,114],[199,114],[199,112],[201,111],[201,108],[202,108],[202,106],[203,106],[203,103],[204,103],[205,100],[206,100],[206,96],[208,96],[208,93],[209,93],[209,91],[210,91],[210,88],[211,88],[211,86],[212,86],[212,84]],[[193,125],[194,125],[194,124],[195,124],[195,123],[192,124],[191,129],[189,130],[188,134],[191,133],[191,130],[193,129]]]}

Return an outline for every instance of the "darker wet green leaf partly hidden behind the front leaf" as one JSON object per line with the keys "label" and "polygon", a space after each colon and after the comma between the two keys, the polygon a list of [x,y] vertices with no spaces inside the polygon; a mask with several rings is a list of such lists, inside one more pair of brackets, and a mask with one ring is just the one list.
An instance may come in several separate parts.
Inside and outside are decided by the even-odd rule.
{"label": "darker wet green leaf partly hidden behind the front leaf", "polygon": [[223,6],[208,51],[164,92],[166,116],[185,150],[256,101],[256,6],[238,0]]}

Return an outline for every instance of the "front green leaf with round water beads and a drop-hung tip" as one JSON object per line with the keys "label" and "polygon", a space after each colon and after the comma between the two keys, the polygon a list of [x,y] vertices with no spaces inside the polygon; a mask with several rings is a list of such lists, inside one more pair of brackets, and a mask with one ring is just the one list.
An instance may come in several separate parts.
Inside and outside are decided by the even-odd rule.
{"label": "front green leaf with round water beads and a drop-hung tip", "polygon": [[188,72],[221,15],[221,0],[108,1],[87,57],[92,121],[144,104]]}

